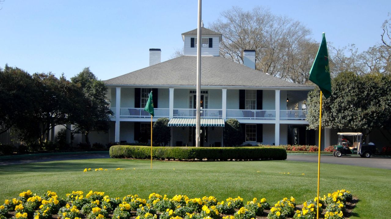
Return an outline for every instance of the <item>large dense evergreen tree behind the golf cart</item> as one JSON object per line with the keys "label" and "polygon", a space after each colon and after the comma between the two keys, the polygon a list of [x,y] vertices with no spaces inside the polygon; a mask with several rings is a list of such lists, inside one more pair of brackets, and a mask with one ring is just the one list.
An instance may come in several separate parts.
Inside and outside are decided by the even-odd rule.
{"label": "large dense evergreen tree behind the golf cart", "polygon": [[[332,79],[332,95],[322,99],[322,125],[329,129],[362,132],[387,127],[391,119],[391,76],[369,73],[358,76],[341,72]],[[307,121],[319,127],[319,89],[308,93]]]}

